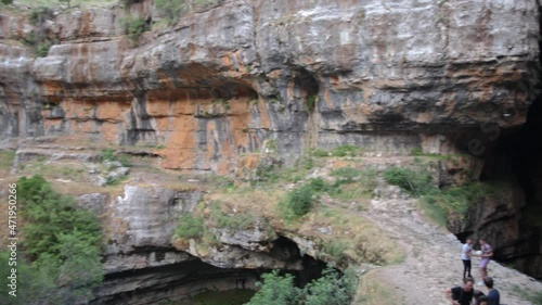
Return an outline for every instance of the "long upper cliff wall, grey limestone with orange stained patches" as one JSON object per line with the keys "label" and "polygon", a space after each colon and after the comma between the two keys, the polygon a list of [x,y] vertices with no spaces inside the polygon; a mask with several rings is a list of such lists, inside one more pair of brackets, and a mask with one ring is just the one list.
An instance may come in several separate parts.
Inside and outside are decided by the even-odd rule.
{"label": "long upper cliff wall, grey limestone with orange stained patches", "polygon": [[[227,174],[268,139],[289,154],[446,152],[468,149],[480,124],[525,120],[533,1],[210,2],[133,43],[117,7],[53,14],[44,58],[0,43],[2,137],[164,144],[164,167]],[[131,14],[160,18],[152,1]],[[2,41],[38,30],[0,21]]]}

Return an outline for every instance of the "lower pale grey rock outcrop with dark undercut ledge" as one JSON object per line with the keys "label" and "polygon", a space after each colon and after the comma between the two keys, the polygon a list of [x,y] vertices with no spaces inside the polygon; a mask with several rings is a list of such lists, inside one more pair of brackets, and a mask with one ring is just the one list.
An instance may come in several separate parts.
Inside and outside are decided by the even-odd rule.
{"label": "lower pale grey rock outcrop with dark undercut ledge", "polygon": [[311,272],[323,268],[272,229],[216,228],[220,246],[194,240],[186,246],[176,244],[179,216],[191,213],[201,196],[201,191],[159,186],[125,186],[116,199],[101,193],[79,196],[80,206],[102,215],[107,239],[105,281],[92,304],[155,304],[205,290],[256,289],[266,270],[286,269],[311,279]]}

